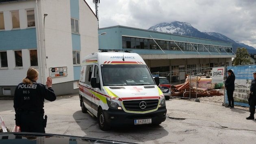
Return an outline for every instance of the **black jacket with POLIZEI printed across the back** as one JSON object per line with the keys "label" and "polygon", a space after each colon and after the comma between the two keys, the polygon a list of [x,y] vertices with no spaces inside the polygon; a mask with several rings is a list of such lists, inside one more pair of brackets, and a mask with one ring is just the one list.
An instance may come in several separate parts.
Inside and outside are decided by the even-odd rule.
{"label": "black jacket with POLIZEI printed across the back", "polygon": [[51,102],[56,100],[56,94],[51,87],[46,89],[44,85],[35,81],[33,81],[33,85],[20,83],[15,89],[13,107],[15,111],[17,108],[22,110],[42,110],[44,99]]}

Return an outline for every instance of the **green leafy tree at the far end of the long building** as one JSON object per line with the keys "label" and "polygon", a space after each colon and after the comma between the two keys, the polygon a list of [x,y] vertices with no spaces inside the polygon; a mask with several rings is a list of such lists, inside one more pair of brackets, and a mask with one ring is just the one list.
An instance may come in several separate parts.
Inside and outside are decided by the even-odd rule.
{"label": "green leafy tree at the far end of the long building", "polygon": [[234,66],[252,64],[250,61],[250,55],[246,48],[238,47],[236,49],[236,57],[233,60]]}

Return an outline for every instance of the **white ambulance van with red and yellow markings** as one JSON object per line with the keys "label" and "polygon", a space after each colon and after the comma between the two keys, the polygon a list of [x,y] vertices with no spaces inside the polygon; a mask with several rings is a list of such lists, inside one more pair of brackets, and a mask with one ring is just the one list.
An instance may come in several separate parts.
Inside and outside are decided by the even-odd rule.
{"label": "white ambulance van with red and yellow markings", "polygon": [[82,112],[97,117],[100,129],[159,125],[166,119],[165,96],[137,54],[99,49],[82,60],[79,98]]}

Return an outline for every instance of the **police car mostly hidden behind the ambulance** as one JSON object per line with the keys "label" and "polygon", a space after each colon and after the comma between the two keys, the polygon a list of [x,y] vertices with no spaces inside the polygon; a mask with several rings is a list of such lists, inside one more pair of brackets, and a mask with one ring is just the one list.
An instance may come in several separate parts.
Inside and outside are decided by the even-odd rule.
{"label": "police car mostly hidden behind the ambulance", "polygon": [[165,95],[165,100],[169,100],[171,97],[171,85],[169,80],[166,77],[161,77],[159,75],[152,75],[153,78],[159,77],[159,85],[158,87],[161,89],[163,94]]}

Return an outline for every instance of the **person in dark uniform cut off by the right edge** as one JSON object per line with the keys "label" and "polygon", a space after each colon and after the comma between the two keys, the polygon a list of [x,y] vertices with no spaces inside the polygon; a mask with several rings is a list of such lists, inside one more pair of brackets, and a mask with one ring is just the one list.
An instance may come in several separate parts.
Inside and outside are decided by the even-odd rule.
{"label": "person in dark uniform cut off by the right edge", "polygon": [[253,78],[251,88],[250,88],[250,94],[249,94],[249,111],[250,111],[250,116],[247,117],[246,119],[254,119],[254,113],[255,113],[255,105],[256,105],[256,72],[253,73]]}

